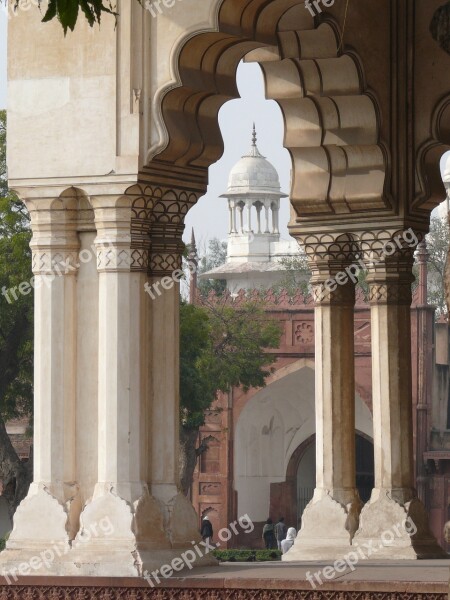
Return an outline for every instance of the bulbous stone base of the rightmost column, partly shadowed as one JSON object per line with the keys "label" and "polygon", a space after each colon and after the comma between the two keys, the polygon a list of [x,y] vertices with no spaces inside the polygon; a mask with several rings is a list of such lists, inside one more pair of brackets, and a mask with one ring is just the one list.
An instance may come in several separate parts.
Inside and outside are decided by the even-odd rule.
{"label": "bulbous stone base of the rightmost column, partly shadowed", "polygon": [[[393,496],[410,499],[400,502]],[[429,529],[425,506],[401,490],[373,490],[353,545],[370,553],[370,560],[448,558]]]}

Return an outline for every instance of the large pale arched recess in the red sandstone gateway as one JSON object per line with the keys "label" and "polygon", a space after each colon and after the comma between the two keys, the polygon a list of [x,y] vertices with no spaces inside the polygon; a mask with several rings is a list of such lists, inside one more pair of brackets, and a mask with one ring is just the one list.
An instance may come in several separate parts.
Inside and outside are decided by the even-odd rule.
{"label": "large pale arched recess in the red sandstone gateway", "polygon": [[[372,415],[359,394],[355,412],[357,431],[371,439]],[[263,523],[283,515],[297,523],[298,465],[309,446],[314,455],[315,418],[314,363],[307,359],[283,367],[247,399],[234,432],[237,516]],[[315,462],[312,472],[314,488]]]}

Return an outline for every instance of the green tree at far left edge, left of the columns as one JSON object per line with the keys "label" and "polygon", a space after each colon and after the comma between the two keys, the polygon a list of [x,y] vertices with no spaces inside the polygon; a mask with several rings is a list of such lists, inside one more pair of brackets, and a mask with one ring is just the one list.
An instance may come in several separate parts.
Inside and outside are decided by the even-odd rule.
{"label": "green tree at far left edge, left of the columns", "polygon": [[5,422],[32,413],[33,297],[8,290],[32,277],[30,238],[27,212],[7,187],[6,112],[0,111],[0,477],[11,514],[31,482],[31,461],[19,459]]}

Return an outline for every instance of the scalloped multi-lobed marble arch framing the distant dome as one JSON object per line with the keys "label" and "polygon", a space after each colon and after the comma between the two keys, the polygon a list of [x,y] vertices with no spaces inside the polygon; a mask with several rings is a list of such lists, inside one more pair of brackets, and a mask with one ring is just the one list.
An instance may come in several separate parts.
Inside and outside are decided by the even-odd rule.
{"label": "scalloped multi-lobed marble arch framing the distant dome", "polygon": [[245,56],[260,64],[266,96],[283,113],[297,215],[390,210],[378,109],[355,54],[340,53],[337,24],[315,27],[298,0],[219,4],[217,30],[191,33],[174,53],[178,84],[168,86],[160,107],[167,144],[152,164],[206,171],[220,158],[218,112],[238,97],[235,73]]}

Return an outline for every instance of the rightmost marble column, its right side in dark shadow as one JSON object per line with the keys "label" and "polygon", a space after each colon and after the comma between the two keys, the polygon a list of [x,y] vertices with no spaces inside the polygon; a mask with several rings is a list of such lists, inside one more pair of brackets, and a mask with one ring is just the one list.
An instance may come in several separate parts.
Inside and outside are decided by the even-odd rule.
{"label": "rightmost marble column, its right side in dark shadow", "polygon": [[[377,548],[374,558],[442,556],[429,531],[425,507],[414,490],[410,309],[413,252],[403,248],[391,256],[367,256],[375,488],[361,513],[354,541],[360,545],[371,541]],[[416,533],[410,535],[415,529]],[[389,543],[384,544],[384,539]]]}

